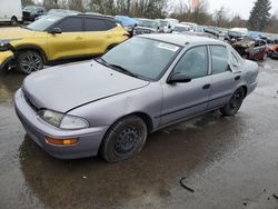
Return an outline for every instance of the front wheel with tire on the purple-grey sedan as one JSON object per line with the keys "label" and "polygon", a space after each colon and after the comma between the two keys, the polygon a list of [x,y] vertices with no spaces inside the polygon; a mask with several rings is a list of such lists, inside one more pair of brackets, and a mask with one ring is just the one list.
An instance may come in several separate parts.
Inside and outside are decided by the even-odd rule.
{"label": "front wheel with tire on the purple-grey sedan", "polygon": [[126,160],[140,152],[148,136],[145,121],[137,116],[118,120],[102,141],[100,153],[108,162]]}

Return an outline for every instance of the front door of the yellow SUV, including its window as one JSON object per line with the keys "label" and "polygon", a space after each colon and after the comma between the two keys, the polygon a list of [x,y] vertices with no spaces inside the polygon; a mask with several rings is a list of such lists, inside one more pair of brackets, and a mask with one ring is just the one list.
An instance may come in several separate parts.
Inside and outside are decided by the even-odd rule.
{"label": "front door of the yellow SUV, including its window", "polygon": [[48,33],[48,53],[50,60],[75,58],[85,54],[83,18],[68,17],[52,26],[52,28],[60,28],[62,33]]}

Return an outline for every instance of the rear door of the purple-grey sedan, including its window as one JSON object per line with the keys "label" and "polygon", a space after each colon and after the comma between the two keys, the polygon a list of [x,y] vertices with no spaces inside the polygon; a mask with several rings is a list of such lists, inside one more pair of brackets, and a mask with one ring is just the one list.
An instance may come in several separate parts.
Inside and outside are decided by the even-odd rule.
{"label": "rear door of the purple-grey sedan, including its window", "polygon": [[[232,72],[229,60],[232,53],[225,46],[209,46],[211,57],[211,90],[209,97],[209,109],[226,104],[237,82],[241,79],[241,72]],[[236,57],[235,57],[236,59]]]}

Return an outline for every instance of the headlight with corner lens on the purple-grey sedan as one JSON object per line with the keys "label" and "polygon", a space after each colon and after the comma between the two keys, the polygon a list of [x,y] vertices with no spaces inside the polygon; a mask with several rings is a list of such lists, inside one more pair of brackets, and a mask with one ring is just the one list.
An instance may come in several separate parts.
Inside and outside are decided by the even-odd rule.
{"label": "headlight with corner lens on the purple-grey sedan", "polygon": [[77,130],[89,127],[89,122],[83,118],[64,115],[53,110],[40,110],[39,116],[46,122],[61,129]]}

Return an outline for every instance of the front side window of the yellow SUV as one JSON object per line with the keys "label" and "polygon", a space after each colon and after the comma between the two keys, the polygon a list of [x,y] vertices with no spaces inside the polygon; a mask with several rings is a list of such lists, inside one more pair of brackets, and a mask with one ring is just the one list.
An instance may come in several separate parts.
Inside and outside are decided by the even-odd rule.
{"label": "front side window of the yellow SUV", "polygon": [[57,27],[60,28],[62,32],[80,32],[83,30],[82,24],[82,18],[67,18]]}

